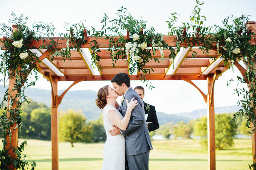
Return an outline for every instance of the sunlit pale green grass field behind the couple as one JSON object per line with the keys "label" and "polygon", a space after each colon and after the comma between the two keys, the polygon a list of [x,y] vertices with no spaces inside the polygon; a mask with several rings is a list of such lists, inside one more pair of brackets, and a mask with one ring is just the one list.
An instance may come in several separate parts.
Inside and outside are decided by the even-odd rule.
{"label": "sunlit pale green grass field behind the couple", "polygon": [[[20,139],[22,140],[22,139]],[[33,158],[36,170],[51,169],[51,141],[29,139],[25,153]],[[154,150],[150,151],[150,170],[207,170],[207,149],[202,148],[198,141],[186,140],[155,140]],[[98,170],[103,162],[104,143],[59,143],[60,170]],[[27,158],[28,159],[28,158]],[[252,163],[251,140],[235,140],[234,147],[216,150],[217,170],[245,170]]]}

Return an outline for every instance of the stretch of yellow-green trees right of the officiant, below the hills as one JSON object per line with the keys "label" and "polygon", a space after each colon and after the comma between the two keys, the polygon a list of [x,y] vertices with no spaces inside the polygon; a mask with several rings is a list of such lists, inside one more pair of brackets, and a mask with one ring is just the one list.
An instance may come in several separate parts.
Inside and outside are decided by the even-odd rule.
{"label": "stretch of yellow-green trees right of the officiant, below the hills", "polygon": [[[236,134],[244,134],[248,137],[250,129],[246,127],[247,120],[245,117],[238,118],[232,122],[232,113],[215,114],[215,142],[217,149],[225,149],[234,144]],[[161,134],[164,138],[170,139],[173,135],[174,139],[182,138],[199,139],[203,147],[207,147],[207,117],[190,120],[188,123],[184,121],[168,122],[151,134]]]}

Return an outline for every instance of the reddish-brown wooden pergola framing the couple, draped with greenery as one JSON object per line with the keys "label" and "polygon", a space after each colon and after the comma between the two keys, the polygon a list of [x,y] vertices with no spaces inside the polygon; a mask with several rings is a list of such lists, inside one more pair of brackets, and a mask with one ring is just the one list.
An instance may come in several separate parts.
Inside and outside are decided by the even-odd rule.
{"label": "reddish-brown wooden pergola framing the couple, draped with greenery", "polygon": [[[247,23],[247,27],[253,32],[256,32],[255,22]],[[15,30],[15,26],[13,26],[13,30]],[[52,115],[51,115],[51,140],[52,140],[52,169],[58,170],[58,106],[61,104],[61,101],[65,95],[65,93],[76,83],[81,81],[99,81],[99,80],[108,80],[110,81],[112,77],[119,73],[125,72],[129,74],[129,64],[126,62],[127,57],[122,60],[117,60],[115,63],[115,68],[113,68],[112,60],[110,59],[109,53],[107,53],[108,40],[104,40],[103,38],[97,38],[98,43],[102,44],[101,52],[98,52],[97,55],[102,57],[99,61],[99,65],[101,65],[102,71],[100,71],[97,75],[95,74],[92,66],[91,66],[91,56],[86,56],[85,49],[91,48],[89,42],[92,39],[86,34],[86,30],[84,31],[85,39],[88,40],[87,44],[82,45],[81,51],[71,51],[71,61],[61,59],[60,56],[54,57],[51,61],[51,56],[46,49],[43,50],[31,50],[37,54],[41,63],[38,64],[38,68],[41,74],[51,82],[52,86]],[[129,34],[124,36],[125,38],[129,38]],[[175,47],[175,37],[164,36],[164,41],[169,45]],[[56,37],[56,39],[60,44],[55,47],[56,49],[66,48],[66,39]],[[33,41],[31,42],[31,46],[40,47],[44,43],[47,43],[48,40]],[[252,39],[251,44],[255,45],[255,39]],[[2,44],[0,43],[0,46]],[[196,46],[196,44],[194,44]],[[218,79],[219,76],[227,69],[229,69],[228,65],[224,65],[224,59],[221,59],[221,54],[218,54],[217,48],[213,48],[209,53],[205,54],[203,51],[198,48],[188,47],[187,44],[181,44],[182,47],[185,47],[179,52],[175,61],[169,59],[170,51],[164,51],[164,60],[162,62],[161,54],[159,51],[152,56],[153,58],[158,59],[160,62],[154,62],[154,60],[149,60],[144,68],[153,68],[154,72],[150,72],[150,74],[146,75],[145,78],[147,80],[184,80],[192,84],[199,92],[202,94],[202,97],[207,103],[208,111],[207,111],[207,129],[208,129],[208,169],[215,170],[216,169],[216,160],[215,160],[215,126],[214,126],[214,95],[213,88],[214,82]],[[216,44],[213,44],[216,46]],[[186,48],[188,47],[188,48]],[[91,50],[90,50],[91,51]],[[195,51],[197,53],[196,58],[192,58],[192,53]],[[215,57],[214,60],[211,57]],[[174,67],[173,65],[174,64]],[[246,65],[246,64],[245,64]],[[244,76],[246,69],[242,67],[238,62],[235,62],[235,66],[239,69],[241,74]],[[131,80],[138,80],[140,76],[140,72],[135,75],[129,75]],[[208,93],[205,94],[198,88],[191,80],[207,80],[208,83]],[[59,81],[74,81],[70,87],[68,87],[61,95],[58,94],[58,82]],[[15,91],[11,91],[13,87],[13,83],[15,81],[9,80],[9,92],[15,93]],[[15,143],[18,142],[18,130],[12,131],[12,142],[13,146],[16,146]],[[252,135],[252,148],[253,148],[253,162],[255,162],[255,151],[256,151],[256,137],[255,133]]]}

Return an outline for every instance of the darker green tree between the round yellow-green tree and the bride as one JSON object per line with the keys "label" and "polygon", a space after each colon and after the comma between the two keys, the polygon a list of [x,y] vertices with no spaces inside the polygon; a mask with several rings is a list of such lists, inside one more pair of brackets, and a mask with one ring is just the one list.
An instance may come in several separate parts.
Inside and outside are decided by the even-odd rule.
{"label": "darker green tree between the round yellow-green tree and the bride", "polygon": [[92,128],[93,142],[105,142],[107,140],[106,131],[103,126],[102,114],[99,116],[98,120],[91,120],[89,125]]}

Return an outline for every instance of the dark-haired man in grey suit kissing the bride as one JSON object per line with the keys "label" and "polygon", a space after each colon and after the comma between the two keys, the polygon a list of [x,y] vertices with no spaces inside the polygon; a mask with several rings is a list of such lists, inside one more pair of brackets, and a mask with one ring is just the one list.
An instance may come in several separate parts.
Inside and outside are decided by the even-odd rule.
{"label": "dark-haired man in grey suit kissing the bride", "polygon": [[126,167],[129,170],[148,170],[149,151],[152,150],[151,140],[145,120],[144,106],[137,92],[130,87],[130,78],[126,73],[118,73],[111,80],[114,90],[119,96],[124,95],[120,112],[125,116],[128,102],[132,98],[138,101],[138,105],[132,110],[128,127],[125,131],[115,127],[109,130],[110,134],[125,136]]}

